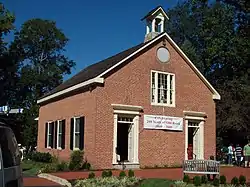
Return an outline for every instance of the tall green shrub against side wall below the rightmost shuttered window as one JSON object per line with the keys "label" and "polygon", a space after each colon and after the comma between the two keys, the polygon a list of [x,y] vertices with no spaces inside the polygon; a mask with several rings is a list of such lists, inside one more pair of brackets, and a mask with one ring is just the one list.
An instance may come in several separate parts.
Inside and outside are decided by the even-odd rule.
{"label": "tall green shrub against side wall below the rightmost shuttered window", "polygon": [[79,170],[83,165],[83,151],[73,151],[70,155],[69,169]]}

